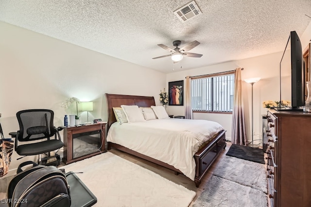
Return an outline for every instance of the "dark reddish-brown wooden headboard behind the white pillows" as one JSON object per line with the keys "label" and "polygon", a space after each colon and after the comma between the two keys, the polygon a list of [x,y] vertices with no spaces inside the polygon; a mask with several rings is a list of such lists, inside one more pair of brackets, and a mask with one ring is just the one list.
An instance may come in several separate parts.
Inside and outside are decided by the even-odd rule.
{"label": "dark reddish-brown wooden headboard behind the white pillows", "polygon": [[114,122],[116,117],[112,107],[121,107],[121,105],[138,105],[139,107],[150,107],[155,105],[155,98],[153,96],[132,96],[105,93],[108,108],[108,130]]}

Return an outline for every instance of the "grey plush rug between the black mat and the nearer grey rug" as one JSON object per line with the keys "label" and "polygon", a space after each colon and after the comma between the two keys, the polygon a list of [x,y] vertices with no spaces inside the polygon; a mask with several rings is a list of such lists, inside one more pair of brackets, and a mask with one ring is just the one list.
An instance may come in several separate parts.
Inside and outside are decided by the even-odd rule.
{"label": "grey plush rug between the black mat and the nearer grey rug", "polygon": [[268,193],[265,165],[231,156],[217,164],[214,175]]}

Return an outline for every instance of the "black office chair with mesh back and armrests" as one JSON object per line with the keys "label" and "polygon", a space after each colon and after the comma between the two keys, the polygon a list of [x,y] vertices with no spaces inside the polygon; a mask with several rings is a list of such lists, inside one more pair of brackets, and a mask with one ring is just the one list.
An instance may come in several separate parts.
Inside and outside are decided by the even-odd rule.
{"label": "black office chair with mesh back and armrests", "polygon": [[[19,130],[9,135],[15,138],[14,148],[18,155],[39,155],[38,164],[42,165],[44,163],[42,163],[41,154],[63,147],[64,143],[61,141],[59,131],[66,127],[56,128],[53,125],[54,112],[52,110],[28,109],[18,111],[16,116]],[[27,143],[18,145],[18,142]]]}

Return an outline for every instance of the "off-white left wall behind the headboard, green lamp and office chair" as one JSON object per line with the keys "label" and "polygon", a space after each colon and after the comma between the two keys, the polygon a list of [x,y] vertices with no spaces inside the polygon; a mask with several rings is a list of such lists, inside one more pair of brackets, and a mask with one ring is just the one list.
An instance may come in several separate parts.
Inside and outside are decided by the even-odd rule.
{"label": "off-white left wall behind the headboard, green lamp and office chair", "polygon": [[[48,108],[55,113],[54,125],[64,125],[61,107],[69,97],[93,101],[89,119],[107,120],[104,93],[158,97],[166,75],[108,55],[63,42],[0,21],[0,122],[5,137],[19,129],[16,113],[31,108]],[[156,104],[159,104],[156,102]],[[86,121],[86,112],[82,113]],[[63,138],[63,132],[61,132]],[[59,153],[62,155],[62,153]],[[10,170],[19,163],[13,153]]]}

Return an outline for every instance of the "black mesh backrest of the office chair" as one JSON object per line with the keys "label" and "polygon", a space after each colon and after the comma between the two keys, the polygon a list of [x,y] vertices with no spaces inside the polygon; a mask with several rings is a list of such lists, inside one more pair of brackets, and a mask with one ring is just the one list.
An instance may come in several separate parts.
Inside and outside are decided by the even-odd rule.
{"label": "black mesh backrest of the office chair", "polygon": [[37,140],[54,136],[54,112],[49,109],[29,109],[16,114],[19,124],[18,141]]}

